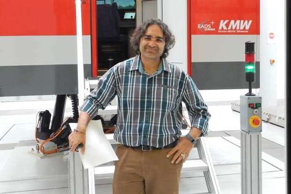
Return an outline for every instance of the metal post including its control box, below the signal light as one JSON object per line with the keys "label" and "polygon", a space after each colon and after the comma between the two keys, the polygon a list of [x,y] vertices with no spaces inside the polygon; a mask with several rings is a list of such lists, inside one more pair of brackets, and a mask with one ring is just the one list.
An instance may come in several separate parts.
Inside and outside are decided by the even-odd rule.
{"label": "metal post including its control box, below the signal light", "polygon": [[260,96],[240,96],[241,193],[262,193]]}

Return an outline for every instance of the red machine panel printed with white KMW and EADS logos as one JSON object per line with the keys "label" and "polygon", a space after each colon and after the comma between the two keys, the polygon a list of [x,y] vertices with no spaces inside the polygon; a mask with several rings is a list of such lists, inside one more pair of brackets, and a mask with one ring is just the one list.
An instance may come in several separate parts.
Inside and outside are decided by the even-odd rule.
{"label": "red machine panel printed with white KMW and EADS logos", "polygon": [[259,0],[191,0],[191,34],[258,35]]}

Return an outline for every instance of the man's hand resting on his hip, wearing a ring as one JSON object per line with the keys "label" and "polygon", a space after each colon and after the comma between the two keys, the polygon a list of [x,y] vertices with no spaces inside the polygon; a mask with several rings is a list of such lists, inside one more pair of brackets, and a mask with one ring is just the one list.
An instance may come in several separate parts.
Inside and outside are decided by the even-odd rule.
{"label": "man's hand resting on his hip, wearing a ring", "polygon": [[172,163],[179,163],[180,161],[185,162],[192,149],[193,144],[186,137],[181,137],[178,145],[171,151],[169,151],[169,153],[167,154],[167,158],[175,154],[172,158]]}

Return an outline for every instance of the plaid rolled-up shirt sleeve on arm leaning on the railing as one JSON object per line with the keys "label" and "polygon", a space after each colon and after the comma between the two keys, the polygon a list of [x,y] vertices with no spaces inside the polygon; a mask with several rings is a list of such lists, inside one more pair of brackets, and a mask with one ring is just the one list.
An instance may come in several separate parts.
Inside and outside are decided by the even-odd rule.
{"label": "plaid rolled-up shirt sleeve on arm leaning on the railing", "polygon": [[80,111],[86,112],[92,119],[99,109],[105,109],[116,95],[115,71],[116,66],[109,69],[99,80],[97,87],[86,96]]}

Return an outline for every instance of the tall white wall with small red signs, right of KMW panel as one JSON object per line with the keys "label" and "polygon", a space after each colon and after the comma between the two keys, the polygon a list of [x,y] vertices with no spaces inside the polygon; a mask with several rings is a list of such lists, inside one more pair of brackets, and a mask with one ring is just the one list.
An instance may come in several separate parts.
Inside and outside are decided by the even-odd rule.
{"label": "tall white wall with small red signs, right of KMW panel", "polygon": [[[268,32],[275,34],[268,43]],[[284,1],[260,1],[260,95],[265,107],[276,107],[285,93],[285,8]],[[270,59],[275,63],[270,64]]]}

